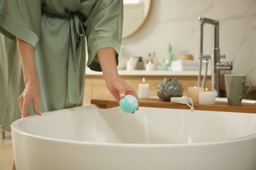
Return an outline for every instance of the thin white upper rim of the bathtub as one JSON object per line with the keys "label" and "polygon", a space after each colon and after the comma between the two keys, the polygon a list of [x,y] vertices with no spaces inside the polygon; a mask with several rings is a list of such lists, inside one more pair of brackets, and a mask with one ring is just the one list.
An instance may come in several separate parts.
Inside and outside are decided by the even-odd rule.
{"label": "thin white upper rim of the bathtub", "polygon": [[[83,109],[84,107],[96,107],[99,109],[98,105],[83,105],[80,107],[74,107],[74,108],[69,108],[69,109],[61,109],[63,111],[66,110],[80,110]],[[185,110],[185,109],[175,109],[175,110]],[[44,116],[51,116],[51,114],[56,114],[60,110],[54,110],[54,111],[49,111],[49,112],[44,112],[43,114],[47,114]],[[202,111],[202,110],[201,110]],[[210,110],[206,110],[209,112],[213,112]],[[233,113],[233,112],[223,112],[223,113]],[[247,112],[234,112],[236,114],[252,114],[252,113],[247,113]],[[26,118],[37,118],[38,115],[32,115],[28,116]],[[247,141],[249,139],[254,139],[256,138],[256,133],[252,133],[250,135],[245,135],[243,137],[238,137],[234,139],[226,139],[223,141],[211,141],[211,142],[200,142],[200,143],[101,143],[101,142],[91,142],[91,141],[74,141],[74,140],[68,140],[68,139],[56,139],[52,137],[44,137],[41,135],[34,135],[32,133],[28,133],[26,131],[23,131],[19,126],[21,122],[23,122],[26,118],[20,118],[11,124],[11,135],[14,135],[14,133],[20,133],[21,135],[27,136],[27,137],[32,137],[34,139],[41,139],[44,141],[52,141],[52,142],[60,142],[60,143],[70,143],[70,144],[88,144],[88,145],[93,145],[93,146],[132,146],[132,147],[167,147],[167,146],[207,146],[207,145],[213,145],[213,144],[226,144],[226,143],[236,143],[240,141]]]}

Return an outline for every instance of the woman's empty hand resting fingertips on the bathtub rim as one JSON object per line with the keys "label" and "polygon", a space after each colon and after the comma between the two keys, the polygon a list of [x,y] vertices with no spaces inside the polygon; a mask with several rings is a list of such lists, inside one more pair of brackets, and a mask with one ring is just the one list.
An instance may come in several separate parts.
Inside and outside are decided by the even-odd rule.
{"label": "woman's empty hand resting fingertips on the bathtub rim", "polygon": [[20,107],[22,118],[30,116],[30,113],[28,112],[30,102],[33,103],[33,111],[35,112],[35,114],[41,115],[41,112],[39,111],[39,99],[40,90],[38,82],[26,84],[24,91],[22,92],[20,97],[18,97],[18,104]]}

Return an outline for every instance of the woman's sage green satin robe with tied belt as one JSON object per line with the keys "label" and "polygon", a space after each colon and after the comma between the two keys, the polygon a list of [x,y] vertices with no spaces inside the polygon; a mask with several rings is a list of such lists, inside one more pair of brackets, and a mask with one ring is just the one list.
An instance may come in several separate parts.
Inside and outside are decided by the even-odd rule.
{"label": "woman's sage green satin robe with tied belt", "polygon": [[0,0],[0,127],[10,131],[20,118],[24,80],[16,37],[35,47],[39,109],[46,112],[82,105],[86,50],[95,71],[101,71],[100,48],[114,48],[117,61],[122,25],[121,0]]}

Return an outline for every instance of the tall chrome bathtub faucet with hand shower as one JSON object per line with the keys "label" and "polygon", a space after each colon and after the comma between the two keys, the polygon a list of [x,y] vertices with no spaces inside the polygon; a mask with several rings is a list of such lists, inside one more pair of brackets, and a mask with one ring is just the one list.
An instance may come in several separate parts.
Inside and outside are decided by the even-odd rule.
{"label": "tall chrome bathtub faucet with hand shower", "polygon": [[[209,59],[211,59],[211,90],[217,90],[217,97],[221,97],[221,88],[220,88],[220,71],[221,70],[232,70],[232,62],[221,62],[221,58],[226,58],[225,55],[220,54],[219,48],[219,21],[212,20],[209,18],[205,18],[200,16],[198,18],[200,22],[200,70],[198,75],[198,86],[201,84],[201,76],[202,76],[202,61],[205,63],[205,75],[203,76],[202,87],[205,86],[205,79],[207,76],[207,69]],[[213,43],[211,48],[211,55],[203,54],[203,25],[204,24],[212,24],[213,25]]]}

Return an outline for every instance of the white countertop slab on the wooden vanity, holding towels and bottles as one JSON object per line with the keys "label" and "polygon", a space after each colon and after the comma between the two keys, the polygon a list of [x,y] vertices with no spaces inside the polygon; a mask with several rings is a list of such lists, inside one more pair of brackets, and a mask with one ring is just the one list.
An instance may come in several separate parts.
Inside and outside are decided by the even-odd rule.
{"label": "white countertop slab on the wooden vanity, holding towels and bottles", "polygon": [[[126,71],[126,70],[118,70],[119,75],[121,76],[198,76],[198,71],[145,71],[145,70],[134,70],[134,71]],[[202,75],[204,72],[202,71]],[[86,68],[85,75],[102,75],[102,72],[92,71],[88,67]],[[208,74],[210,75],[209,71]]]}

